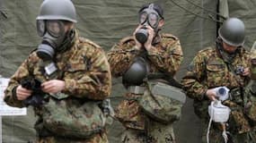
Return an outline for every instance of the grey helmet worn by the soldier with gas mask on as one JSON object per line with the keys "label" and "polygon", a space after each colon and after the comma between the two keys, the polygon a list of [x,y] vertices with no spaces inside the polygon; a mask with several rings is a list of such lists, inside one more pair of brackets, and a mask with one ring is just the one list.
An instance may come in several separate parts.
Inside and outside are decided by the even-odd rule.
{"label": "grey helmet worn by the soldier with gas mask on", "polygon": [[37,20],[64,20],[76,22],[75,6],[71,0],[44,0]]}

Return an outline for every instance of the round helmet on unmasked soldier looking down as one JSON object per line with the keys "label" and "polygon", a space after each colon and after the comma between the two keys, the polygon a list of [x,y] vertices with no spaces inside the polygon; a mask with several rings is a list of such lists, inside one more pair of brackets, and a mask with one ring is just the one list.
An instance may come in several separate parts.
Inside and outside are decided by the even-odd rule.
{"label": "round helmet on unmasked soldier looking down", "polygon": [[245,27],[243,21],[237,18],[230,18],[224,22],[218,35],[230,46],[243,46],[245,38]]}

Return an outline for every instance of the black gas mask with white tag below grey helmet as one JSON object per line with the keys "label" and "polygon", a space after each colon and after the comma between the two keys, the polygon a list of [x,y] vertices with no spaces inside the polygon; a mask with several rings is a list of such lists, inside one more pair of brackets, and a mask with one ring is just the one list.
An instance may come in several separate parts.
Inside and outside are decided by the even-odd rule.
{"label": "black gas mask with white tag below grey helmet", "polygon": [[42,38],[42,42],[37,49],[37,55],[45,64],[44,71],[49,77],[57,71],[54,56],[57,52],[62,52],[66,49],[65,43],[66,33],[64,21],[37,21],[37,31]]}

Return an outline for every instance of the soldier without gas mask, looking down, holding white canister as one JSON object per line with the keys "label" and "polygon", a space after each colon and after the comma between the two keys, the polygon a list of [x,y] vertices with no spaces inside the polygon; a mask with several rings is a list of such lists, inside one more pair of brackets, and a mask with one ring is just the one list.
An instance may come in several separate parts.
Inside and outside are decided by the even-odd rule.
{"label": "soldier without gas mask, looking down, holding white canister", "polygon": [[[230,97],[222,101],[231,109],[227,124],[213,122],[208,139],[211,143],[254,143],[253,125],[244,111],[248,98],[244,87],[250,80],[250,55],[243,48],[245,28],[243,21],[230,18],[218,29],[216,45],[199,51],[181,80],[187,96],[194,99],[194,111],[203,123],[202,142],[207,142],[208,105],[218,99],[216,88],[225,86]],[[224,125],[224,126],[223,126]],[[226,132],[224,132],[226,130]],[[227,137],[223,138],[222,133]],[[225,140],[226,141],[226,140]]]}

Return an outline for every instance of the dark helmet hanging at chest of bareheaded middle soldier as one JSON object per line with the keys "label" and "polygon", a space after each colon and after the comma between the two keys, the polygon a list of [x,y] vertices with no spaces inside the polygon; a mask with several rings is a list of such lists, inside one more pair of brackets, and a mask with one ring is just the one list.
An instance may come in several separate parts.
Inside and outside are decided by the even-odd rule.
{"label": "dark helmet hanging at chest of bareheaded middle soldier", "polygon": [[139,57],[130,65],[128,71],[123,75],[123,83],[133,86],[139,86],[146,78],[147,64],[146,61]]}

